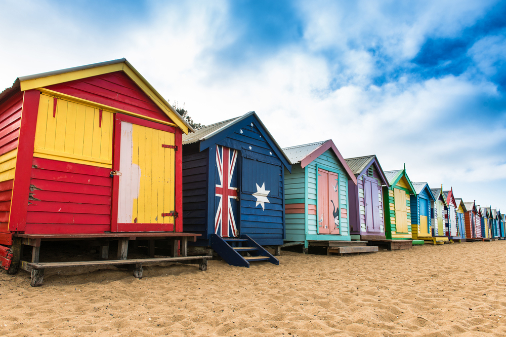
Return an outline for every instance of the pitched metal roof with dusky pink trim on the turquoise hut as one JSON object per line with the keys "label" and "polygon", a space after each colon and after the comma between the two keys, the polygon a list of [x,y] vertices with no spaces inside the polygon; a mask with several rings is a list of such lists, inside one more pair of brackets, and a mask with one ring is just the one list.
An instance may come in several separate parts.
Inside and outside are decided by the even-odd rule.
{"label": "pitched metal roof with dusky pink trim on the turquoise hut", "polygon": [[350,180],[352,180],[355,185],[357,184],[357,177],[350,170],[350,167],[346,163],[346,160],[343,158],[338,148],[335,146],[332,139],[328,139],[322,142],[316,142],[311,144],[297,145],[291,147],[283,148],[283,151],[288,154],[286,156],[290,158],[293,164],[301,163],[301,167],[306,167],[311,162],[313,162],[316,158],[320,157],[325,151],[331,149],[336,157],[338,157],[339,162],[343,165],[346,173]]}

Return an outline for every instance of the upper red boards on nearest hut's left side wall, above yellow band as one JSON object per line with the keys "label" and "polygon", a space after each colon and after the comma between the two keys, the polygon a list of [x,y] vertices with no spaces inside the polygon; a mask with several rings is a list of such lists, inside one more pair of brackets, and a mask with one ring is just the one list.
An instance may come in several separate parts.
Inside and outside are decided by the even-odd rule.
{"label": "upper red boards on nearest hut's left side wall, above yellow band", "polygon": [[17,93],[0,105],[0,156],[18,147],[23,93]]}

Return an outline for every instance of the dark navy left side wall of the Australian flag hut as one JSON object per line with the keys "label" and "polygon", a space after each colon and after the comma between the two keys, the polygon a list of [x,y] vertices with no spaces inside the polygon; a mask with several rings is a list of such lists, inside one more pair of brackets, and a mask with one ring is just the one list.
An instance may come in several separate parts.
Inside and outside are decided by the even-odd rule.
{"label": "dark navy left side wall of the Australian flag hut", "polygon": [[199,143],[183,146],[183,232],[205,235],[207,228],[207,156]]}

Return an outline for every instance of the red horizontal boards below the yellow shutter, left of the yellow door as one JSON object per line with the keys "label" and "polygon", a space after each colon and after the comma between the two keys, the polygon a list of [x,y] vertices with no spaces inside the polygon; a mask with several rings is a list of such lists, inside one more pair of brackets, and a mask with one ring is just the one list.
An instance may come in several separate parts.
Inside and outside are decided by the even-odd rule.
{"label": "red horizontal boards below the yellow shutter, left of the yellow door", "polygon": [[101,233],[111,228],[110,169],[33,158],[25,233]]}

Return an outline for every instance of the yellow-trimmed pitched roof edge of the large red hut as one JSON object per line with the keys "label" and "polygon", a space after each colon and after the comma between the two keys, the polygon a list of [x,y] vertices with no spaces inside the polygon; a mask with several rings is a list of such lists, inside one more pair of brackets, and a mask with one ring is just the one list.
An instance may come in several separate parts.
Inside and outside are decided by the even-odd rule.
{"label": "yellow-trimmed pitched roof edge of the large red hut", "polygon": [[21,91],[38,89],[114,71],[125,72],[126,75],[130,77],[130,79],[134,81],[141,90],[149,96],[149,98],[151,98],[153,103],[155,103],[165,113],[165,115],[167,115],[178,127],[180,127],[184,133],[194,131],[188,122],[186,122],[181,115],[178,114],[176,109],[174,109],[174,107],[169,104],[125,58],[19,77],[16,79],[11,88],[7,88],[0,93],[0,101],[18,88]]}

